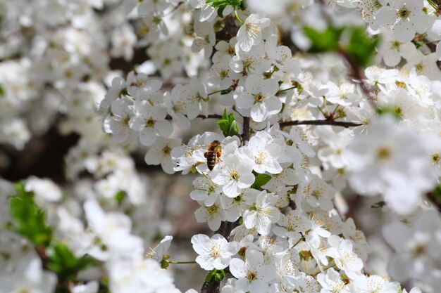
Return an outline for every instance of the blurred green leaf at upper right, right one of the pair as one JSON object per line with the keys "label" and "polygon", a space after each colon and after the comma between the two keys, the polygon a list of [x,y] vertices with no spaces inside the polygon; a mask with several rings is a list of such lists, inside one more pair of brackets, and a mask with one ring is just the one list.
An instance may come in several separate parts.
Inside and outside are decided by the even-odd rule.
{"label": "blurred green leaf at upper right, right one of the pair", "polygon": [[351,31],[351,37],[349,37],[349,43],[344,49],[357,65],[367,67],[375,54],[378,41],[380,41],[378,37],[368,37],[364,27],[354,27]]}

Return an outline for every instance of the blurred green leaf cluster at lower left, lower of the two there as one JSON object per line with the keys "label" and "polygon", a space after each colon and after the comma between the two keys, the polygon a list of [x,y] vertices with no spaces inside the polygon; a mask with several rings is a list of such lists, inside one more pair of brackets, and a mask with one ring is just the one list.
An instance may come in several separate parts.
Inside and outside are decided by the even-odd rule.
{"label": "blurred green leaf cluster at lower left, lower of the two there", "polygon": [[97,263],[96,259],[88,255],[78,259],[63,242],[55,242],[51,247],[47,268],[57,273],[62,280],[73,280],[77,273]]}

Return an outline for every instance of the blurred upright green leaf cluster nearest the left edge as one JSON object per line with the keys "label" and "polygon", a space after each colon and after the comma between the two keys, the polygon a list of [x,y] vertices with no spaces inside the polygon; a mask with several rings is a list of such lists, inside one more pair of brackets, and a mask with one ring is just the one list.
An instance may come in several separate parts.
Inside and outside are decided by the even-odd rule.
{"label": "blurred upright green leaf cluster nearest the left edge", "polygon": [[15,184],[16,194],[9,206],[13,223],[11,230],[27,237],[37,247],[47,247],[52,240],[52,228],[46,225],[44,211],[34,202],[34,193],[25,190],[23,183]]}

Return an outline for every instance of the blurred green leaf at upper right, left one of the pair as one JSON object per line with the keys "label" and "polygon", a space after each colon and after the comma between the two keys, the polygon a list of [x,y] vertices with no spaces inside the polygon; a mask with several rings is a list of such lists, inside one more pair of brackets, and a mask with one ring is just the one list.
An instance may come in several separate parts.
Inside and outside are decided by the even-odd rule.
{"label": "blurred green leaf at upper right, left one of the pair", "polygon": [[323,53],[337,51],[338,41],[343,32],[342,28],[328,27],[326,30],[318,31],[313,27],[304,27],[305,36],[311,41],[311,53]]}

